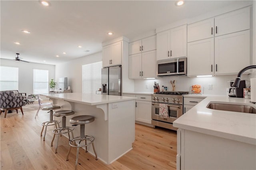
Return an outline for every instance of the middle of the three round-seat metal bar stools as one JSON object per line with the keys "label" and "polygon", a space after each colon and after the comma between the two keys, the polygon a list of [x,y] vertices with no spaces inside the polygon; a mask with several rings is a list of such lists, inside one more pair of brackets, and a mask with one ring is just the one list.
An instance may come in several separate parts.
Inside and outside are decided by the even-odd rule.
{"label": "middle of the three round-seat metal bar stools", "polygon": [[[67,127],[66,126],[66,116],[69,116],[69,115],[74,115],[75,112],[74,111],[69,111],[69,110],[63,110],[63,111],[56,111],[54,112],[54,116],[56,117],[61,117],[62,116],[62,126],[60,128],[56,128],[54,129],[52,132],[54,133],[54,136],[55,134],[57,134],[57,142],[56,142],[56,146],[55,146],[55,153],[57,153],[57,147],[58,147],[58,141],[59,141],[59,136],[61,134],[65,134],[65,133],[68,133],[68,139],[71,140],[72,138],[74,138],[74,134],[73,134],[73,130],[74,128],[73,127]],[[70,132],[72,134],[72,138],[70,138]],[[54,136],[52,138],[52,142],[54,140]]]}

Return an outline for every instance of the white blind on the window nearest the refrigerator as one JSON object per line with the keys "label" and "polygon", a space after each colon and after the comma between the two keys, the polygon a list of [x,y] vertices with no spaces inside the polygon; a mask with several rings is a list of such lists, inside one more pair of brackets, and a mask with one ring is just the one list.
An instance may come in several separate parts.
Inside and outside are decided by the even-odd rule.
{"label": "white blind on the window nearest the refrigerator", "polygon": [[83,93],[96,94],[101,88],[102,61],[82,66]]}

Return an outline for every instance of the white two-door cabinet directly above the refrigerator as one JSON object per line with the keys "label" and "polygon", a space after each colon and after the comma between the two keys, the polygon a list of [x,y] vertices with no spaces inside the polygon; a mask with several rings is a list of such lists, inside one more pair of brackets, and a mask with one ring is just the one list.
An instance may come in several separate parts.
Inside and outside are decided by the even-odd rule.
{"label": "white two-door cabinet directly above the refrigerator", "polygon": [[122,41],[102,47],[102,67],[122,64]]}

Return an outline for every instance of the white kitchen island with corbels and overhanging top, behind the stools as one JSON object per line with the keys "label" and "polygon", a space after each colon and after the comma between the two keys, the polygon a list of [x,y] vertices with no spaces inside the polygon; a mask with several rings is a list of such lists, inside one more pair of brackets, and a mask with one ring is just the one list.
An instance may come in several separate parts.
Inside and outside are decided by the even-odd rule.
{"label": "white kitchen island with corbels and overhanging top, behind the stools", "polygon": [[[111,164],[132,149],[135,140],[135,100],[136,97],[113,95],[89,95],[82,93],[58,93],[42,95],[52,99],[59,110],[73,110],[74,115],[92,115],[94,122],[85,125],[86,135],[94,136],[98,159]],[[61,117],[55,117],[61,121]],[[74,136],[79,136],[80,127],[74,127]],[[68,144],[68,143],[67,143]],[[74,148],[73,148],[74,149]],[[92,146],[88,152],[94,155]],[[82,159],[82,157],[80,158]]]}

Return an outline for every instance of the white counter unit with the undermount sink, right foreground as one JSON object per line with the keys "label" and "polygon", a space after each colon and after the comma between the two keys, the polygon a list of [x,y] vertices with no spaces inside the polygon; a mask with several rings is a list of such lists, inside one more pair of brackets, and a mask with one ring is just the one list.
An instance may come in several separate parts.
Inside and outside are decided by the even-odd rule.
{"label": "white counter unit with the undermount sink, right foreground", "polygon": [[256,114],[208,109],[250,99],[209,96],[174,121],[177,169],[256,169]]}

